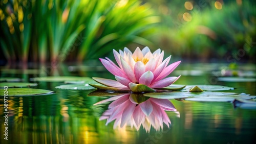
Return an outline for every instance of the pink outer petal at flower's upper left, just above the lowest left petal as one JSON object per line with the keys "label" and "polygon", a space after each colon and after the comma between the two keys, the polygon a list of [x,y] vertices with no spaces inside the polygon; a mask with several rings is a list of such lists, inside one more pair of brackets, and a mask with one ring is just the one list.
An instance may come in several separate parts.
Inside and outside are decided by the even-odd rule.
{"label": "pink outer petal at flower's upper left, just above the lowest left petal", "polygon": [[110,71],[111,74],[115,75],[115,76],[120,76],[120,77],[126,77],[123,74],[123,71],[114,63],[111,63],[108,60],[105,59],[100,59],[101,63],[105,66],[106,69],[108,69]]}

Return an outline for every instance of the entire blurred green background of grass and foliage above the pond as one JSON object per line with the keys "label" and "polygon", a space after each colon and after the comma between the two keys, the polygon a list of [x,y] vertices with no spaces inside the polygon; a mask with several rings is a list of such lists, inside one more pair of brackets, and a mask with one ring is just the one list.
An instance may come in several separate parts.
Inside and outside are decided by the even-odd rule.
{"label": "entire blurred green background of grass and foliage above the pond", "polygon": [[83,62],[150,46],[191,62],[255,62],[254,1],[0,2],[0,64]]}

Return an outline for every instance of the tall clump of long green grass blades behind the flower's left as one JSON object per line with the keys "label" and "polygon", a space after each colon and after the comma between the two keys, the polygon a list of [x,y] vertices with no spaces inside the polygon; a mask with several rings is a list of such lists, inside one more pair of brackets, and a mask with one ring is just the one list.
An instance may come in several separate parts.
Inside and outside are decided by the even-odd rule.
{"label": "tall clump of long green grass blades behind the flower's left", "polygon": [[145,37],[159,22],[139,1],[1,1],[1,47],[8,60],[83,61]]}

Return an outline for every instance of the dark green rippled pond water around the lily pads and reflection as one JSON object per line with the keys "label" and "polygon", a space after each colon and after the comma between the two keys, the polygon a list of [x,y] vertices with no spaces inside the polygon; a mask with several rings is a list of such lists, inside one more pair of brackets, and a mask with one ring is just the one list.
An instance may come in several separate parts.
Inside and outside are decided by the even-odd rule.
{"label": "dark green rippled pond water around the lily pads and reflection", "polygon": [[[51,70],[47,75],[86,76],[113,78],[108,71],[64,66],[66,70]],[[199,66],[200,67],[200,66]],[[208,65],[210,67],[210,65]],[[94,67],[95,68],[95,67]],[[207,67],[198,70],[187,66],[178,67],[172,76],[181,78],[175,84],[218,84],[235,87],[227,92],[244,92],[256,95],[255,82],[219,82],[204,73]],[[69,69],[70,71],[68,71]],[[89,67],[90,69],[90,67]],[[202,70],[204,69],[204,70]],[[191,71],[192,70],[192,71]],[[194,70],[194,71],[193,71]],[[5,71],[1,77],[29,78],[40,76]],[[30,71],[31,72],[31,71]],[[24,72],[25,73],[25,72]],[[40,70],[39,70],[40,73]],[[138,130],[130,126],[107,126],[100,116],[108,110],[107,104],[93,105],[110,97],[88,97],[88,90],[62,90],[55,86],[63,82],[38,82],[33,88],[48,89],[56,93],[26,97],[8,97],[8,140],[4,139],[4,104],[0,98],[1,143],[255,143],[256,110],[234,108],[229,102],[191,102],[170,100],[177,111],[165,111],[171,125],[163,124],[160,131],[151,127]],[[169,101],[169,100],[167,100]],[[120,107],[122,109],[123,107]],[[129,106],[125,107],[129,108]],[[131,107],[132,108],[132,107]],[[159,113],[158,113],[159,114]],[[156,119],[157,117],[157,113]],[[139,115],[138,115],[139,116]],[[155,120],[156,120],[155,119]],[[145,124],[146,125],[146,124]],[[145,126],[146,127],[146,126]]]}

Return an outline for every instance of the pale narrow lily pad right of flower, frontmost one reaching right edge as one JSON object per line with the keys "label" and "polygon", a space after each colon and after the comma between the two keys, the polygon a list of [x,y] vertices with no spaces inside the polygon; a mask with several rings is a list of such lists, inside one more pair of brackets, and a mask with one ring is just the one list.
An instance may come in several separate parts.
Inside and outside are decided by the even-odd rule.
{"label": "pale narrow lily pad right of flower, frontmost one reaching right edge", "polygon": [[254,99],[255,96],[248,96],[243,94],[234,94],[234,95],[215,95],[209,97],[195,97],[195,98],[186,98],[186,101],[197,101],[197,102],[232,102],[234,99],[249,100]]}

